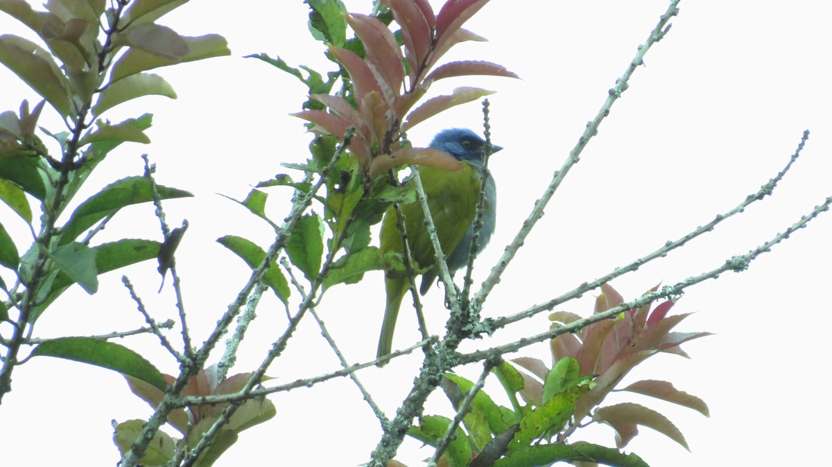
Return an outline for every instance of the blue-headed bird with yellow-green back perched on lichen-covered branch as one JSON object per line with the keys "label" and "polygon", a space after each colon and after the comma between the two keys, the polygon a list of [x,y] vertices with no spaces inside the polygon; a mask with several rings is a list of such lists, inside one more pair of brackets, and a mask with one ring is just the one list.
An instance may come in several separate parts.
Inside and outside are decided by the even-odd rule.
{"label": "blue-headed bird with yellow-green back perched on lichen-covered branch", "polygon": [[[439,244],[442,245],[451,274],[468,263],[468,253],[471,250],[471,238],[473,238],[473,220],[477,212],[483,180],[485,146],[485,141],[472,130],[464,128],[442,130],[433,137],[430,147],[453,155],[454,158],[463,162],[465,167],[462,170],[449,171],[418,166],[424,194],[428,199],[430,215],[433,218],[433,224],[436,225]],[[491,145],[492,153],[501,149],[503,148],[498,145]],[[412,182],[405,181],[405,183]],[[417,202],[402,205],[402,214],[404,214],[404,227],[408,234],[410,253],[413,255],[414,262],[418,268],[428,269],[423,274],[422,285],[419,288],[419,292],[424,295],[438,276],[435,250],[424,224],[421,204]],[[480,249],[491,239],[497,216],[497,188],[490,175],[485,183],[483,214],[483,227],[479,231],[478,239]],[[391,206],[384,214],[381,224],[383,253],[391,251],[401,253],[404,249],[397,221],[398,215]],[[404,273],[400,272],[386,273],[384,284],[387,292],[387,306],[384,308],[384,322],[379,337],[377,354],[379,358],[390,354],[396,318],[399,317],[399,307],[409,290],[409,280]]]}

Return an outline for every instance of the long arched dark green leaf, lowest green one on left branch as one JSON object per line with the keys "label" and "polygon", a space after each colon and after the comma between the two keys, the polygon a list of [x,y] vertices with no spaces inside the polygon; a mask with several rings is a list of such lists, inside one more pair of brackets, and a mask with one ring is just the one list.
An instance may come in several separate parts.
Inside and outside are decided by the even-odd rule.
{"label": "long arched dark green leaf, lowest green one on left branch", "polygon": [[57,356],[72,361],[101,366],[146,381],[166,391],[165,377],[145,357],[127,347],[92,337],[63,337],[42,342],[32,356]]}

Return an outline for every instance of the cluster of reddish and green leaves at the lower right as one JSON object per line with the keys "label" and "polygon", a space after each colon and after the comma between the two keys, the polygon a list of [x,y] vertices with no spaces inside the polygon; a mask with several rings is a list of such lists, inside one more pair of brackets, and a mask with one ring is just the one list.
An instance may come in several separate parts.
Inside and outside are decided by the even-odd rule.
{"label": "cluster of reddish and green leaves at the lower right", "polygon": [[[657,287],[656,287],[657,288]],[[655,292],[652,288],[651,292]],[[624,300],[609,284],[602,286],[595,312],[617,307]],[[649,306],[622,312],[615,320],[597,322],[572,334],[551,340],[552,368],[537,359],[520,357],[494,369],[513,408],[498,406],[484,391],[473,396],[464,415],[463,428],[445,453],[448,465],[549,465],[566,461],[575,465],[600,463],[617,466],[646,466],[634,454],[620,450],[638,434],[637,425],[649,426],[687,449],[681,431],[664,415],[639,404],[625,402],[601,406],[604,398],[617,389],[622,378],[646,358],[661,352],[687,356],[682,342],[709,335],[708,332],[671,332],[689,314],[667,316],[673,302],[666,301],[652,311]],[[581,317],[571,312],[555,312],[552,327],[576,322]],[[443,391],[456,410],[462,410],[463,397],[473,388],[472,381],[448,373]],[[619,391],[636,392],[708,415],[705,402],[676,388],[667,381],[636,381]],[[526,402],[521,405],[517,395]],[[577,441],[567,444],[573,433],[589,423],[603,423],[616,430],[615,449]],[[438,415],[422,417],[408,432],[428,445],[438,445],[451,420]]]}

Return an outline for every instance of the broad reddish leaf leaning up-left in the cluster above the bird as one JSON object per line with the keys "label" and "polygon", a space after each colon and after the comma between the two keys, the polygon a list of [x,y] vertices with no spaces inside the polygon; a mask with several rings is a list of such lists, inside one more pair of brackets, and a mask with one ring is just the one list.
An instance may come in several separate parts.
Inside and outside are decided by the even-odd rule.
{"label": "broad reddish leaf leaning up-left in the cluster above the bird", "polygon": [[358,13],[347,15],[347,22],[364,43],[367,59],[389,87],[389,101],[393,101],[399,96],[404,82],[404,57],[393,32],[375,17]]}

